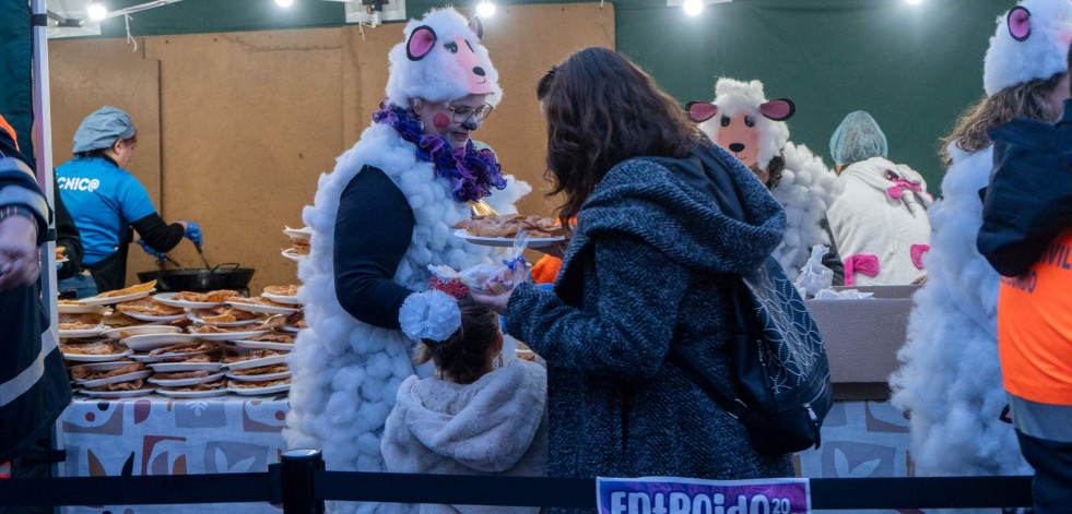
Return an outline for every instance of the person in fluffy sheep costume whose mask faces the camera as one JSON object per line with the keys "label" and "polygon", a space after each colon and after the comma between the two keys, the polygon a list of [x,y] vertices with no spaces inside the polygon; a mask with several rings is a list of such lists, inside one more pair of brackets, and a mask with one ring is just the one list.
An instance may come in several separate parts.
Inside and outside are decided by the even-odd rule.
{"label": "person in fluffy sheep costume whose mask faces the camera", "polygon": [[812,247],[830,246],[821,222],[834,201],[836,184],[822,158],[789,142],[785,120],[793,116],[796,106],[786,98],[768,101],[759,81],[722,77],[715,84],[714,103],[690,103],[688,112],[711,141],[756,171],[786,210],[786,236],[774,258],[796,279]]}

